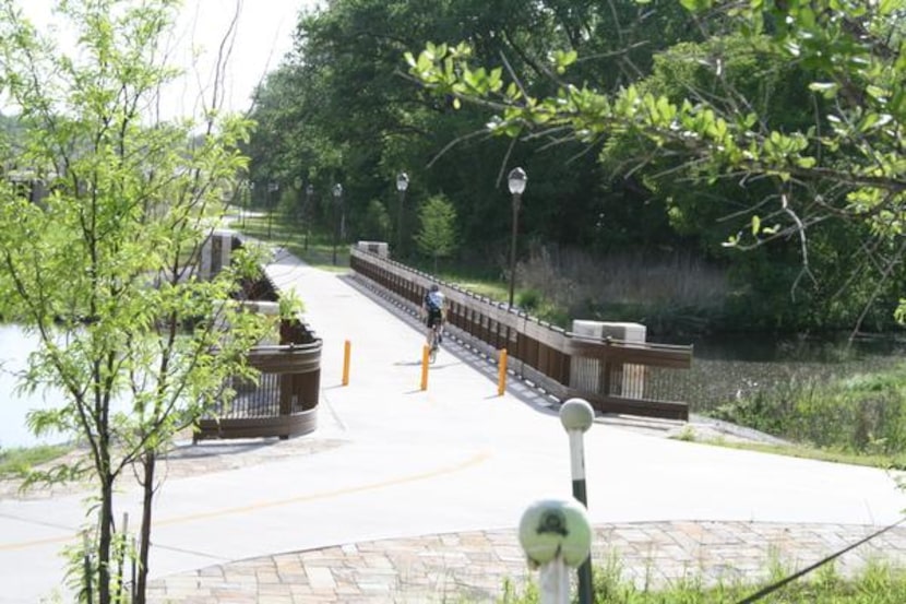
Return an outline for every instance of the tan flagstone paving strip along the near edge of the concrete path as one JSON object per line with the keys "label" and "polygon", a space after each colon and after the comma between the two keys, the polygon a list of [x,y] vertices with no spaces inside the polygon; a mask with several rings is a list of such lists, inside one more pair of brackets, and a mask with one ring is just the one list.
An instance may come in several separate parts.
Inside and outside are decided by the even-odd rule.
{"label": "tan flagstone paving strip along the near edge of the concrete path", "polygon": [[[841,524],[643,522],[595,528],[593,560],[637,587],[683,579],[765,579],[804,568],[874,532]],[[842,573],[871,561],[906,564],[906,526],[836,560]],[[515,529],[351,543],[212,566],[152,582],[150,604],[494,602],[535,581]]]}

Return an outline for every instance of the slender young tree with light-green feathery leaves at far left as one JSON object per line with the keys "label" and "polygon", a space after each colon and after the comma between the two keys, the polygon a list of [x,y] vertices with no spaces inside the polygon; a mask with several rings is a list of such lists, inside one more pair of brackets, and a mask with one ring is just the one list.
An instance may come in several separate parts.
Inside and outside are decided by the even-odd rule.
{"label": "slender young tree with light-green feathery leaves at far left", "polygon": [[[238,145],[250,123],[216,102],[200,122],[154,119],[176,74],[160,57],[177,7],[61,1],[58,14],[78,34],[72,54],[13,0],[0,7],[0,82],[20,125],[17,153],[4,140],[0,161],[29,167],[49,191],[33,203],[0,181],[0,315],[39,339],[24,384],[64,395],[58,408],[29,414],[32,429],[61,430],[87,448],[87,465],[35,477],[85,477],[96,489],[79,558],[92,554],[83,589],[91,581],[102,604],[122,601],[115,562],[133,555],[135,602],[144,602],[157,459],[228,400],[229,376],[253,377],[246,353],[267,328],[231,301],[258,267],[253,253],[213,281],[194,274],[246,166]],[[133,467],[143,490],[138,553],[116,520],[116,487]]]}

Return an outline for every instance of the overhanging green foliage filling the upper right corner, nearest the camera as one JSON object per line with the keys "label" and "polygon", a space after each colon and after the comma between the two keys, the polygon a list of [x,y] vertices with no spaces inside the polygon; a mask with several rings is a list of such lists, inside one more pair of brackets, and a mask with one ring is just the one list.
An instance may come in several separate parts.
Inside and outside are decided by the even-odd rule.
{"label": "overhanging green foliage filling the upper right corner, nearest the camera", "polygon": [[[468,44],[410,52],[409,73],[436,94],[493,108],[491,133],[569,131],[589,143],[608,138],[609,145],[620,145],[608,150],[609,158],[663,194],[681,228],[708,225],[716,213],[727,225],[722,228],[730,229],[724,238],[730,247],[788,241],[800,270],[777,291],[819,284],[838,292],[841,284],[857,284],[853,299],[834,301],[850,317],[860,304],[889,305],[892,284],[902,282],[894,274],[903,252],[892,244],[906,202],[898,13],[890,5],[835,2],[682,4],[706,42],[655,55],[653,78],[618,90],[577,78],[556,80],[553,92],[537,86],[533,95],[524,82],[491,76]],[[567,76],[568,62],[558,66]],[[741,199],[730,183],[747,190]],[[723,189],[717,199],[727,200],[723,206],[713,203],[715,186]],[[825,268],[834,260],[821,256],[826,247],[812,250],[810,242],[815,225],[831,220],[853,225],[858,244],[824,239],[846,256],[849,279],[832,273],[821,283],[814,260]],[[815,239],[822,242],[820,230]],[[795,303],[808,306],[821,297]],[[828,307],[815,316],[822,322],[833,312]]]}

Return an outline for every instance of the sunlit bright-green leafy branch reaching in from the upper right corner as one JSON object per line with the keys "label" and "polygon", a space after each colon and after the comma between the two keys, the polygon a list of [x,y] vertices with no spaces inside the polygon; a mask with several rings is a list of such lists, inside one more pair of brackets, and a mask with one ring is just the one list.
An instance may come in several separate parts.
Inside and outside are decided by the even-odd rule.
{"label": "sunlit bright-green leafy branch reaching in from the upper right corner", "polygon": [[[854,282],[871,279],[870,301],[883,296],[906,252],[899,237],[906,202],[901,144],[906,91],[899,85],[906,75],[906,21],[901,4],[681,3],[716,44],[707,55],[690,57],[690,64],[698,61],[711,71],[714,87],[689,88],[679,99],[634,84],[610,92],[570,83],[568,72],[577,56],[557,48],[550,49],[548,68],[560,74],[552,93],[533,93],[517,74],[504,78],[503,68],[477,67],[465,44],[428,45],[418,56],[407,55],[407,61],[410,73],[434,93],[494,110],[491,132],[569,132],[587,144],[629,137],[643,151],[637,165],[672,157],[700,186],[725,180],[770,186],[770,193],[741,214],[744,223],[726,242],[751,249],[797,241],[800,270],[792,280],[794,296],[800,285],[816,281],[809,230],[835,218],[861,225],[865,236],[856,248],[866,262]],[[756,97],[731,85],[724,76],[727,55],[720,44],[730,36],[761,49],[773,64],[798,68],[806,76],[799,96],[811,109],[808,123],[790,128],[778,122]],[[906,304],[901,303],[896,316],[906,318]]]}

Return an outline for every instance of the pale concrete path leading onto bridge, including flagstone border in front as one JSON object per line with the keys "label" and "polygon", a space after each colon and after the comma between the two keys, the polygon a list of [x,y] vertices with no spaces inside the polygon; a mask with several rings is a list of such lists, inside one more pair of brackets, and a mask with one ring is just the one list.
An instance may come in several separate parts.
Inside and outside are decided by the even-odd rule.
{"label": "pale concrete path leading onto bridge, including flagstone border in front", "polygon": [[[513,528],[529,502],[570,495],[552,401],[523,384],[497,396],[494,368],[454,343],[421,391],[414,319],[288,254],[269,273],[299,293],[324,340],[320,427],[290,441],[175,452],[155,509],[154,602],[425,602],[444,592],[486,601],[501,577],[526,577]],[[882,471],[670,440],[631,424],[600,418],[585,437],[596,552],[620,550],[630,576],[713,575],[718,559],[758,568],[778,547],[811,561],[897,521],[906,504]],[[58,554],[84,524],[81,499],[0,499],[0,603],[37,602],[62,584]],[[138,501],[131,488],[119,497],[132,518]],[[885,538],[885,553],[906,552],[899,530]]]}

